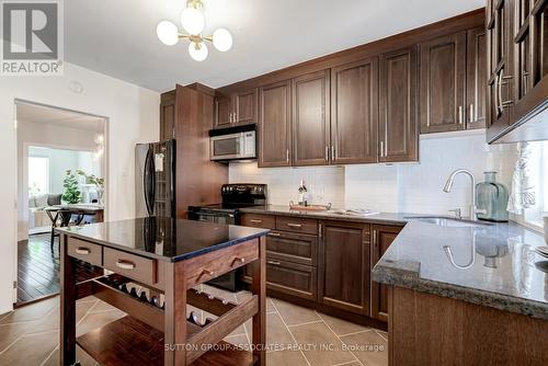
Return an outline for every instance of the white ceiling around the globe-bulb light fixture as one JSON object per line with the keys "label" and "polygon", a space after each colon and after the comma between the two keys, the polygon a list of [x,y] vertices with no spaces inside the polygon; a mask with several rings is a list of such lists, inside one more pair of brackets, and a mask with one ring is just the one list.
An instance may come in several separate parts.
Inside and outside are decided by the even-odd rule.
{"label": "white ceiling around the globe-bulb light fixture", "polygon": [[484,0],[204,0],[206,32],[231,31],[228,53],[203,62],[187,43],[164,46],[161,20],[180,26],[185,0],[67,0],[65,58],[157,91],[195,81],[217,88],[401,33],[484,5]]}

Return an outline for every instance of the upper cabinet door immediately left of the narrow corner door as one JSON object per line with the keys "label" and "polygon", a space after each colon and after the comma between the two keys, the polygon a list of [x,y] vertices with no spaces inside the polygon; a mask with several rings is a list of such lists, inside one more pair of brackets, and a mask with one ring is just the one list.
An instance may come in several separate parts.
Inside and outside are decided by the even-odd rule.
{"label": "upper cabinet door immediately left of the narrow corner door", "polygon": [[466,33],[423,43],[421,47],[421,133],[465,128]]}

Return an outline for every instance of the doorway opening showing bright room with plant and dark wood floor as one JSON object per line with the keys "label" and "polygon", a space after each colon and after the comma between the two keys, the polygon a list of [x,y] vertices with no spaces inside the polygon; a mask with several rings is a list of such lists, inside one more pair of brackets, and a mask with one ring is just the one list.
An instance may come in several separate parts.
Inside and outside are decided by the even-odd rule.
{"label": "doorway opening showing bright room with plant and dark wood floor", "polygon": [[[107,118],[22,101],[15,115],[19,307],[59,293],[54,228],[104,219]],[[101,274],[78,273],[82,281]]]}

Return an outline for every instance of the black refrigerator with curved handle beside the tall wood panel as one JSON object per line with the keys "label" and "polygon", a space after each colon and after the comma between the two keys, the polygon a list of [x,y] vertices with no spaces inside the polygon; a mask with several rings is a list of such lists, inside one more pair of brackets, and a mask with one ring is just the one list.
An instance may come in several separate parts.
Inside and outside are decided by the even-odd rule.
{"label": "black refrigerator with curved handle beside the tall wood panel", "polygon": [[175,140],[137,144],[136,217],[175,217]]}

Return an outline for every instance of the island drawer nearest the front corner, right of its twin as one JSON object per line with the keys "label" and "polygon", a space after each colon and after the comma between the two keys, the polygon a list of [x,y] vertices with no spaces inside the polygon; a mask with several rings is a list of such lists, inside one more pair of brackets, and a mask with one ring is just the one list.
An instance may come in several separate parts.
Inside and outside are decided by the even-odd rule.
{"label": "island drawer nearest the front corner, right of its twin", "polygon": [[110,271],[145,285],[163,288],[163,274],[157,260],[105,248],[103,263],[104,267]]}

